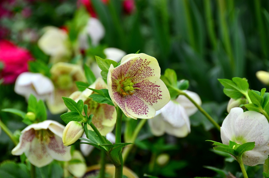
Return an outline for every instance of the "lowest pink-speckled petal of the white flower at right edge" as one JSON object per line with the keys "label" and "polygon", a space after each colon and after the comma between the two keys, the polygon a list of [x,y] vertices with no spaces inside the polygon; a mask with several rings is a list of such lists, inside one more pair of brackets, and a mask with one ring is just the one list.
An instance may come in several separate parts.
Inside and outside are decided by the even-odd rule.
{"label": "lowest pink-speckled petal of the white flower at right edge", "polygon": [[246,151],[242,155],[244,165],[256,166],[258,164],[264,164],[264,161],[268,158],[268,155],[262,155],[256,151]]}

